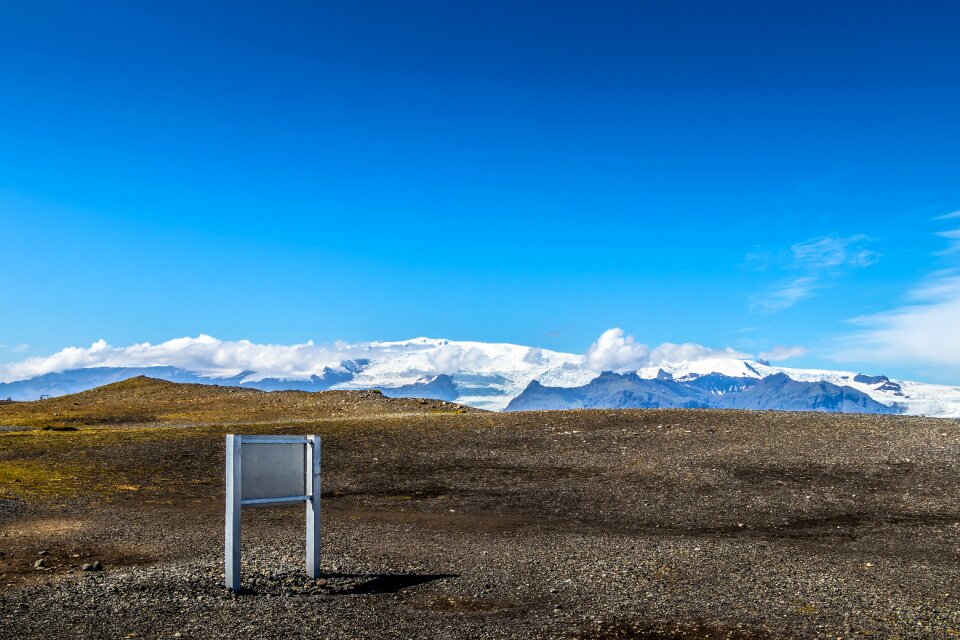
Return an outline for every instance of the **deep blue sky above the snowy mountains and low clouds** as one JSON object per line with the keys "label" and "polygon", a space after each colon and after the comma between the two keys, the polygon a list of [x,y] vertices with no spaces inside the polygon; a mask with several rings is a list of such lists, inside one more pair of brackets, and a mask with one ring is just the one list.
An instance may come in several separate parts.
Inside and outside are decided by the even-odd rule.
{"label": "deep blue sky above the snowy mountains and low clouds", "polygon": [[0,8],[0,362],[616,326],[960,384],[955,3],[139,4]]}

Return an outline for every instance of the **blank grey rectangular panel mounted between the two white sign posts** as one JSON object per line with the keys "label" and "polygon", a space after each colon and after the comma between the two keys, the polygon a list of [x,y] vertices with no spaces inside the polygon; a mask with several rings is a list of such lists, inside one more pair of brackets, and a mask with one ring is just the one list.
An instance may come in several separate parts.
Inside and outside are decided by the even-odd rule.
{"label": "blank grey rectangular panel mounted between the two white sign posts", "polygon": [[306,495],[307,446],[243,443],[240,486],[244,500]]}

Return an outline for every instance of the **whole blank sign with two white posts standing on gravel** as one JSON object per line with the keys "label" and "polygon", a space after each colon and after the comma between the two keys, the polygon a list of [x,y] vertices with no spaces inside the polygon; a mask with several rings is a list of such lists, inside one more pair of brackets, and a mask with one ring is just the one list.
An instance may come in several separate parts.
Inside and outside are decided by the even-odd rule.
{"label": "whole blank sign with two white posts standing on gravel", "polygon": [[307,575],[320,576],[320,436],[227,436],[224,584],[240,590],[240,511],[304,502]]}

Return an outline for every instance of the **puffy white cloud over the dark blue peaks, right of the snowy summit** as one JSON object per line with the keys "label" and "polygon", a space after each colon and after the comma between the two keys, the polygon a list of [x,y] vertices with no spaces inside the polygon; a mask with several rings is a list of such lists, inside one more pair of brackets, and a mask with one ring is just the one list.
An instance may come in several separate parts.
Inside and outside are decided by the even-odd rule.
{"label": "puffy white cloud over the dark blue peaks, right of the snowy summit", "polygon": [[708,358],[746,358],[733,349],[712,349],[699,344],[664,342],[651,349],[625,335],[623,329],[607,329],[584,354],[584,365],[593,371],[636,371],[665,363],[696,362]]}

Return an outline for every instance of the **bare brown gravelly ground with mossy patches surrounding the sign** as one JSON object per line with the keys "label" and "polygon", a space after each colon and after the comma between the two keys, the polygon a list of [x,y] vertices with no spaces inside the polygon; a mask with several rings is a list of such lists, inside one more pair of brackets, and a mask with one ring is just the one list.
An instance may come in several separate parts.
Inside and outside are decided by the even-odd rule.
{"label": "bare brown gravelly ground with mossy patches surrounding the sign", "polygon": [[[0,425],[2,637],[960,637],[955,420],[140,378]],[[251,508],[223,588],[227,433],[323,437],[323,579]]]}

